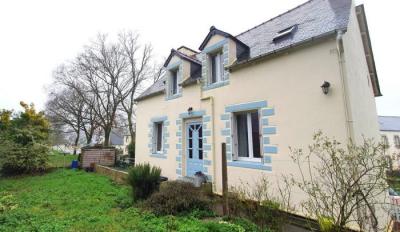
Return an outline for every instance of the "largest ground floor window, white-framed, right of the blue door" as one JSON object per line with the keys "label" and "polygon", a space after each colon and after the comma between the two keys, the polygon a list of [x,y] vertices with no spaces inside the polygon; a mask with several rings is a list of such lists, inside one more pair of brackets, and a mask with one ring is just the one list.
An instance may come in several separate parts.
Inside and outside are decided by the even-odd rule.
{"label": "largest ground floor window, white-framed, right of the blue door", "polygon": [[233,114],[234,158],[261,160],[260,121],[258,111]]}

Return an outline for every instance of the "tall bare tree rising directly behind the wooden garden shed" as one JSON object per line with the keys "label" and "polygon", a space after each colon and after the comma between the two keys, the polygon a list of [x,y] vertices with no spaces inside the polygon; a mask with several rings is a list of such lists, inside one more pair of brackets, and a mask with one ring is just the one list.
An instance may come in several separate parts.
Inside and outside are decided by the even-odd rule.
{"label": "tall bare tree rising directly behind the wooden garden shed", "polygon": [[[98,35],[74,64],[79,76],[78,85],[85,86],[93,97],[92,101],[86,102],[97,116],[98,125],[104,131],[104,145],[108,146],[117,110],[123,100],[119,89],[128,85],[128,62],[123,49],[118,43],[108,43],[106,35]],[[77,83],[71,81],[70,85],[77,86]]]}

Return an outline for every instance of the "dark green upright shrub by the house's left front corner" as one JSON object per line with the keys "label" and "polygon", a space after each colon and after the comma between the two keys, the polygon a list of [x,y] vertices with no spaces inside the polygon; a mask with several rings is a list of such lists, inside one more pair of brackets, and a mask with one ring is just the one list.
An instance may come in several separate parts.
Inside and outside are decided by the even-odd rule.
{"label": "dark green upright shrub by the house's left front corner", "polygon": [[133,201],[147,199],[160,186],[161,169],[150,164],[138,164],[129,169],[128,183],[132,187]]}

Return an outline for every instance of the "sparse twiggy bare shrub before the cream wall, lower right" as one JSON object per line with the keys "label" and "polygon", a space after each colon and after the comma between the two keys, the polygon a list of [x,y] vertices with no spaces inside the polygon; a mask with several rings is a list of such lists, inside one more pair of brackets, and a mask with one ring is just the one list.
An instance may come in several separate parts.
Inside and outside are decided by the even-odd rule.
{"label": "sparse twiggy bare shrub before the cream wall, lower right", "polygon": [[387,163],[382,144],[364,140],[361,145],[314,136],[308,152],[291,149],[301,177],[292,178],[307,195],[302,207],[328,231],[344,231],[358,224],[363,231],[378,231],[378,207],[387,191]]}

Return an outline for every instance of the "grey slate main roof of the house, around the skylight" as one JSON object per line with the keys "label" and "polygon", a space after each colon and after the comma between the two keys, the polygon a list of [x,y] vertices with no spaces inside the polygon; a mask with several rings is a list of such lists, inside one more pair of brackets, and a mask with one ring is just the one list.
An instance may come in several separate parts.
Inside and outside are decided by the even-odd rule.
{"label": "grey slate main roof of the house, around the skylight", "polygon": [[[240,33],[236,38],[250,48],[248,59],[265,56],[338,30],[346,30],[351,3],[351,0],[310,0]],[[293,25],[297,26],[295,33],[279,42],[273,42],[279,31]],[[164,82],[165,77],[144,91],[137,100],[162,93]]]}

